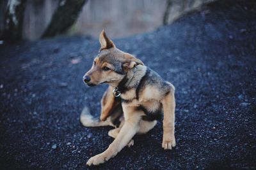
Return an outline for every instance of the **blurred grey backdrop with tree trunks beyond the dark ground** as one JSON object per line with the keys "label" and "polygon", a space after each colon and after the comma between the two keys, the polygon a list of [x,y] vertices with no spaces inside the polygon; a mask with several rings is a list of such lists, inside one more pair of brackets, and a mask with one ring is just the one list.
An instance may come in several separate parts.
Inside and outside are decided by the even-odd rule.
{"label": "blurred grey backdrop with tree trunks beyond the dark ground", "polygon": [[[0,39],[82,34],[111,38],[153,31],[213,0],[1,0]],[[13,33],[15,32],[15,33]]]}

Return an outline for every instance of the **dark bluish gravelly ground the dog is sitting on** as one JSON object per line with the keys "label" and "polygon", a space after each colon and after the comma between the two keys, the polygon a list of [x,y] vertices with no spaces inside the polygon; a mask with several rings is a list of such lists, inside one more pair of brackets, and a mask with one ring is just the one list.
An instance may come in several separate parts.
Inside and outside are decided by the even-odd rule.
{"label": "dark bluish gravelly ground the dog is sitting on", "polygon": [[[175,85],[177,146],[161,148],[160,121],[94,168],[256,169],[256,3],[222,2],[114,39]],[[86,169],[113,141],[111,127],[79,122],[85,104],[99,115],[107,87],[82,81],[98,50],[84,36],[0,46],[1,169]]]}

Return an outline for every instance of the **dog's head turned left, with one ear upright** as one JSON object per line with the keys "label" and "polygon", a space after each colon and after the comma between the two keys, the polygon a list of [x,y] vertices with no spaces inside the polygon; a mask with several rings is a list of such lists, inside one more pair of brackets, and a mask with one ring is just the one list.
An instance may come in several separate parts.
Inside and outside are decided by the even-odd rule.
{"label": "dog's head turned left, with one ear upright", "polygon": [[83,76],[89,86],[108,83],[117,86],[131,69],[142,64],[141,60],[116,48],[104,30],[100,33],[100,52],[93,60],[92,68]]}

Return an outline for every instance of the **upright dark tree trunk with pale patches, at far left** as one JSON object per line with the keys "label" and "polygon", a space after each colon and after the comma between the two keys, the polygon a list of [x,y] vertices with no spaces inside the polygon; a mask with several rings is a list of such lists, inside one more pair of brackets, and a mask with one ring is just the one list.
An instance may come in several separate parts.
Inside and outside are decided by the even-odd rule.
{"label": "upright dark tree trunk with pale patches, at far left", "polygon": [[22,22],[26,0],[9,0],[4,18],[3,39],[19,41],[22,39]]}

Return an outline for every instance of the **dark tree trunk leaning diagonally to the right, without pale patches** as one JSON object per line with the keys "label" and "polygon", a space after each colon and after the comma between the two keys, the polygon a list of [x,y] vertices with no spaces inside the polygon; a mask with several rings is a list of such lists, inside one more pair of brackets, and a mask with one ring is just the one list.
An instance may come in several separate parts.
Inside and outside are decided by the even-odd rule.
{"label": "dark tree trunk leaning diagonally to the right, without pale patches", "polygon": [[45,29],[42,38],[53,37],[66,32],[76,22],[84,3],[87,0],[59,0],[51,22]]}

